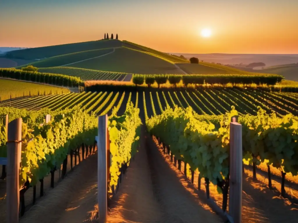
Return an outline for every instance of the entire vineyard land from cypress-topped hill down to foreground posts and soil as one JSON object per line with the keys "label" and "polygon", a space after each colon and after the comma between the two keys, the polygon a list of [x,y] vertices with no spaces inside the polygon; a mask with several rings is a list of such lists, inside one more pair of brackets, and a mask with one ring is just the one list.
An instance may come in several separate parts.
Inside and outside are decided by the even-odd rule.
{"label": "entire vineyard land from cypress-topped hill down to foreground posts and soil", "polygon": [[297,83],[125,40],[7,57],[38,69],[0,68],[1,223],[297,222]]}

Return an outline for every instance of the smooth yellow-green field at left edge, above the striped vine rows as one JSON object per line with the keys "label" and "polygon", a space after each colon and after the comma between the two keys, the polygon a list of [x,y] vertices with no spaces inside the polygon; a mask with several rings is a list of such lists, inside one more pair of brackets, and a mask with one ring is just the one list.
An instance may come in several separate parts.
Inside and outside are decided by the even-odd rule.
{"label": "smooth yellow-green field at left edge, above the striped vine rows", "polygon": [[33,95],[46,95],[58,93],[69,93],[69,89],[61,88],[61,87],[52,87],[44,84],[35,84],[35,83],[28,83],[23,81],[14,81],[14,80],[7,80],[7,79],[0,79],[0,97],[1,100],[7,100],[10,98],[18,98],[29,96],[29,93]]}

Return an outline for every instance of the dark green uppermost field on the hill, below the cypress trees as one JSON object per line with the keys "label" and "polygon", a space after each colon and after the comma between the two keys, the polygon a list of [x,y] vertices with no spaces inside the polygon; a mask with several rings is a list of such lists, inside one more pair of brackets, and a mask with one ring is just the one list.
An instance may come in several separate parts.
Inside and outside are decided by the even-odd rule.
{"label": "dark green uppermost field on the hill, below the cypress trees", "polygon": [[15,50],[9,52],[8,55],[10,55],[11,58],[18,59],[44,59],[80,51],[120,47],[121,45],[122,43],[120,40],[97,40],[83,43],[69,43],[64,45]]}

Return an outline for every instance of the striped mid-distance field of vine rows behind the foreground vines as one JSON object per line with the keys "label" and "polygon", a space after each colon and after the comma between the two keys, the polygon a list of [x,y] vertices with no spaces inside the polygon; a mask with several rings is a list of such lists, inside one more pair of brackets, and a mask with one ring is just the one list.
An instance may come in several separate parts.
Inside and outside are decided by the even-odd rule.
{"label": "striped mid-distance field of vine rows behind the foreground vines", "polygon": [[132,101],[138,106],[143,103],[145,117],[161,114],[167,106],[177,105],[182,108],[191,106],[198,114],[219,115],[231,110],[231,106],[240,114],[256,115],[258,106],[267,114],[276,112],[278,116],[288,113],[298,115],[297,94],[285,92],[256,92],[239,89],[197,89],[197,90],[148,90],[144,92],[83,92],[63,95],[48,95],[18,100],[7,100],[0,106],[40,110],[48,108],[52,111],[79,106],[81,109],[97,115],[112,113],[116,107],[118,115],[123,114],[126,104]]}

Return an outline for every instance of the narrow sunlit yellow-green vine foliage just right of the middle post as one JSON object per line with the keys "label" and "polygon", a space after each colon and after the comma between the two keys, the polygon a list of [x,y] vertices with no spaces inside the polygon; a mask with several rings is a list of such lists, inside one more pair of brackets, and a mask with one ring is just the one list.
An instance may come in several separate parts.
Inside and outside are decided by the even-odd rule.
{"label": "narrow sunlit yellow-green vine foliage just right of the middle post", "polygon": [[[116,110],[114,110],[116,111]],[[122,164],[128,164],[137,152],[142,121],[139,117],[140,109],[130,102],[122,116],[112,112],[108,121],[111,153],[111,181],[110,186],[117,186]],[[111,187],[110,187],[111,188]]]}

